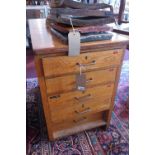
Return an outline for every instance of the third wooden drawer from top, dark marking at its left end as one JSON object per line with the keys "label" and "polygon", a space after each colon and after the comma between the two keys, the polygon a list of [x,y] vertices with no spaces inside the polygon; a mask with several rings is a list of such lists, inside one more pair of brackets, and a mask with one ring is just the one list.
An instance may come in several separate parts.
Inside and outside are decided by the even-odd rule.
{"label": "third wooden drawer from top, dark marking at its left end", "polygon": [[103,102],[105,98],[112,96],[114,85],[107,84],[98,87],[93,87],[86,89],[86,91],[72,91],[68,93],[62,93],[54,96],[48,97],[48,102],[51,111],[56,111],[57,109],[66,109],[73,105],[78,104],[89,104]]}

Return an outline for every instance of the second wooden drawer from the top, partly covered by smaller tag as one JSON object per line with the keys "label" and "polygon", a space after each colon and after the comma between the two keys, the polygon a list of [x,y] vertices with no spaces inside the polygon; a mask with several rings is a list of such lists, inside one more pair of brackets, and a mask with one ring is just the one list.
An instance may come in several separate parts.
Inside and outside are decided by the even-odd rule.
{"label": "second wooden drawer from the top, partly covered by smaller tag", "polygon": [[[117,68],[86,72],[86,87],[114,82]],[[46,79],[47,94],[64,93],[76,90],[76,74]]]}

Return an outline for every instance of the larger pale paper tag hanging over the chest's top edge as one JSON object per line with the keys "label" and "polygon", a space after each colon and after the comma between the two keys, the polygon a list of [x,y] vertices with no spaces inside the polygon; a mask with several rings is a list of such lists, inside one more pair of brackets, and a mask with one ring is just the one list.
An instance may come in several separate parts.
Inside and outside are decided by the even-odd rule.
{"label": "larger pale paper tag hanging over the chest's top edge", "polygon": [[77,56],[80,54],[80,33],[69,32],[68,34],[68,56]]}

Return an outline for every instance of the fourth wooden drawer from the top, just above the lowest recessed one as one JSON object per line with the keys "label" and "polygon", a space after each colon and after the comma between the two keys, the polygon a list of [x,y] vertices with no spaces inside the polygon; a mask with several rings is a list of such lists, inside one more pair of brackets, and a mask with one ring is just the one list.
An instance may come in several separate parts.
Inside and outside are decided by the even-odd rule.
{"label": "fourth wooden drawer from the top, just above the lowest recessed one", "polygon": [[68,120],[79,120],[79,117],[87,117],[87,115],[94,114],[96,112],[102,112],[110,109],[111,96],[106,97],[100,102],[90,102],[83,105],[76,105],[72,107],[63,108],[58,111],[51,112],[51,120],[53,123],[61,123]]}

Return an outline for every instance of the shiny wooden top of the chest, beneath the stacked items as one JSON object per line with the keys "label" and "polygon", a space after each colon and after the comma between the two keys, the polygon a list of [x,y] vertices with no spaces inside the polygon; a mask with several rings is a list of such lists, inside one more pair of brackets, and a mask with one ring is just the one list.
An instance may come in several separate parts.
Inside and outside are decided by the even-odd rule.
{"label": "shiny wooden top of the chest, beneath the stacked items", "polygon": [[[29,29],[32,48],[36,55],[65,53],[68,51],[68,45],[62,43],[47,29],[46,19],[30,19]],[[113,33],[111,40],[81,43],[81,53],[86,50],[100,48],[112,49],[126,46],[127,44],[127,36]]]}

